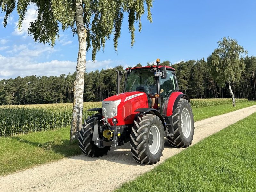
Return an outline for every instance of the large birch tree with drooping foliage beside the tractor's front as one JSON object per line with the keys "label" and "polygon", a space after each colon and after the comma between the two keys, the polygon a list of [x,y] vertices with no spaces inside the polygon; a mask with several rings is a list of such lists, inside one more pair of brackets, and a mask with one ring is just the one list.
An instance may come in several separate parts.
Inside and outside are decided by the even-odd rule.
{"label": "large birch tree with drooping foliage beside the tractor's front", "polygon": [[147,8],[147,19],[152,22],[151,8],[153,0],[0,0],[0,12],[5,13],[3,25],[6,27],[8,17],[13,11],[19,15],[18,28],[21,29],[28,6],[37,7],[37,18],[30,23],[29,35],[35,42],[55,45],[59,38],[59,26],[62,30],[71,29],[77,34],[79,49],[74,82],[74,102],[70,141],[77,138],[82,126],[84,73],[86,51],[92,48],[92,59],[96,53],[105,48],[105,43],[113,35],[114,48],[117,51],[121,35],[123,16],[128,14],[128,28],[131,33],[131,46],[135,42],[135,22],[141,31],[141,16],[144,6]]}

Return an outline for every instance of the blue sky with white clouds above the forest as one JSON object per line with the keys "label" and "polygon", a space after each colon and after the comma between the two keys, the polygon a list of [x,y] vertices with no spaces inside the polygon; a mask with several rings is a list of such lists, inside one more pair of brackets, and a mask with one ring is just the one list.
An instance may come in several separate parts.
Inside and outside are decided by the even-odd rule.
{"label": "blue sky with white clouds above the forest", "polygon": [[[207,58],[217,42],[230,36],[256,55],[256,1],[255,0],[155,0],[153,22],[142,17],[142,30],[135,23],[135,43],[131,47],[128,17],[124,15],[118,51],[113,39],[92,62],[92,50],[86,54],[86,72],[135,66],[138,63],[169,60],[172,64]],[[21,31],[17,29],[18,16],[13,12],[4,28],[4,13],[0,13],[0,80],[36,76],[59,76],[76,71],[78,52],[77,36],[70,30],[60,30],[60,40],[51,48],[49,44],[35,43],[28,36],[29,23],[36,19],[36,7],[27,10]]]}

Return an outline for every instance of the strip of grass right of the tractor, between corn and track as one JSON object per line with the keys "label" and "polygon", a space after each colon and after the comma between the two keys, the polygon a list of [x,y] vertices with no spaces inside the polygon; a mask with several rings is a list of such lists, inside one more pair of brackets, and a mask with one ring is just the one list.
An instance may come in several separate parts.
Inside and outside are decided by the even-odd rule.
{"label": "strip of grass right of the tractor, between corn and track", "polygon": [[256,105],[256,101],[247,101],[244,103],[236,103],[236,107],[232,107],[232,104],[218,105],[218,106],[209,106],[201,108],[193,108],[194,120],[199,121],[209,117],[221,115],[231,111],[236,111],[245,107]]}

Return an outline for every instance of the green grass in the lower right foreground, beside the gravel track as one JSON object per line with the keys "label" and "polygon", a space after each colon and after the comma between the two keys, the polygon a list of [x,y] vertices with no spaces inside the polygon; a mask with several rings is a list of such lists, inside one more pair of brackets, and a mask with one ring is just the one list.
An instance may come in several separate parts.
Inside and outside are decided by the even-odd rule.
{"label": "green grass in the lower right foreground, beside the gravel track", "polygon": [[169,158],[116,192],[255,191],[256,113]]}

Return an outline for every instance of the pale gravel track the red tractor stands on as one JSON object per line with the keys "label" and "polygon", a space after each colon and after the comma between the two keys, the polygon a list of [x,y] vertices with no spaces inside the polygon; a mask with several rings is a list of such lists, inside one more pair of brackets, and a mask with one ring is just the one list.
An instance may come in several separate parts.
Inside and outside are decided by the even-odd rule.
{"label": "pale gravel track the red tractor stands on", "polygon": [[[195,122],[192,144],[254,112],[256,105]],[[172,148],[167,142],[164,147],[160,163],[184,150]],[[79,155],[0,177],[0,191],[112,191],[156,165],[143,166],[135,162],[130,145],[126,143],[119,148],[112,148],[107,156],[101,158]],[[103,186],[108,186],[107,190]]]}

